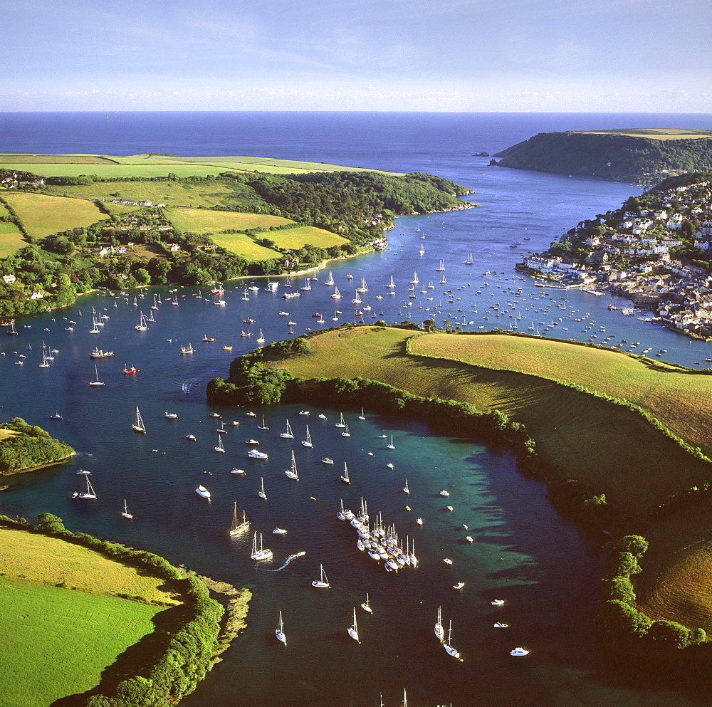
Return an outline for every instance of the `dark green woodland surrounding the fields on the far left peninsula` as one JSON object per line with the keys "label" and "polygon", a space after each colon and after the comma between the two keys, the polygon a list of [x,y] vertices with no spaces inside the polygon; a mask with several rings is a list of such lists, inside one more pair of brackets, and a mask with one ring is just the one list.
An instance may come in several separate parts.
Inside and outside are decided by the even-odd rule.
{"label": "dark green woodland surrounding the fields on the far left peninsula", "polygon": [[[4,171],[0,170],[0,177]],[[52,177],[46,180],[46,185],[38,185],[35,175],[22,175],[28,181],[19,182],[20,189],[42,193],[52,186],[71,184],[85,189],[88,199],[93,198],[92,188],[98,182],[115,182],[118,190],[120,182],[127,181],[88,175]],[[228,197],[214,207],[218,210],[283,216],[299,225],[333,231],[350,243],[331,248],[306,245],[297,251],[284,251],[284,258],[249,263],[224,248],[204,250],[204,246],[213,246],[208,236],[182,234],[175,229],[141,231],[139,221],[136,228],[129,231],[105,229],[112,223],[118,226],[118,216],[36,241],[26,234],[20,219],[6,205],[9,215],[0,216],[0,219],[16,224],[28,245],[0,261],[0,278],[16,278],[14,283],[0,279],[0,317],[70,305],[77,294],[98,287],[122,289],[166,283],[204,285],[240,276],[282,273],[286,258],[298,260],[300,266],[310,266],[327,258],[354,255],[365,244],[382,236],[383,231],[392,226],[395,216],[462,208],[463,202],[456,199],[456,195],[471,193],[448,179],[421,173],[397,177],[373,172],[316,172],[288,176],[226,172],[217,177],[169,175],[152,179],[136,177],[131,181],[206,185],[219,182],[230,191]],[[103,206],[100,201],[98,204]],[[269,233],[269,230],[263,233],[249,231],[248,235],[258,242],[263,236],[262,240],[268,242]],[[129,242],[147,246],[155,256],[97,257],[100,247],[116,247]],[[177,243],[180,251],[170,251],[170,243]],[[36,291],[42,293],[42,298],[31,299],[30,295]]]}

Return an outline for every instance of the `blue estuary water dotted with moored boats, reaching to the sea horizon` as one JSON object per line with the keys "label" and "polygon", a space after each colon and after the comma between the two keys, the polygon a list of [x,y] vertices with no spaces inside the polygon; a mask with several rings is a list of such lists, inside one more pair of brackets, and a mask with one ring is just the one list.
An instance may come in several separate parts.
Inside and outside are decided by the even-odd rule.
{"label": "blue estuary water dotted with moored boats, reaching to the sea horizon", "polygon": [[[309,281],[310,290],[299,290],[304,278],[291,278],[281,279],[275,293],[265,289],[265,279],[228,283],[223,295],[205,288],[100,292],[67,310],[23,318],[18,336],[0,336],[3,417],[40,424],[79,454],[70,464],[13,478],[0,495],[0,511],[30,518],[56,513],[73,530],[251,587],[246,631],[187,705],[366,706],[377,705],[380,694],[384,704],[396,705],[404,689],[411,705],[691,703],[681,693],[642,690],[607,676],[593,632],[601,558],[557,516],[543,486],[518,474],[505,449],[434,435],[420,421],[368,412],[360,419],[360,410],[332,409],[328,401],[308,416],[289,405],[209,407],[204,389],[212,377],[226,375],[236,355],[258,345],[260,331],[274,341],[290,331],[378,319],[447,319],[470,331],[532,328],[706,367],[708,346],[607,308],[624,301],[538,287],[513,270],[523,253],[543,250],[639,187],[488,167],[489,158],[472,153],[496,152],[550,130],[709,124],[709,116],[689,115],[0,115],[5,152],[264,155],[419,170],[471,187],[477,194],[468,198],[481,204],[398,219],[386,251],[329,263],[310,273],[318,278]],[[340,300],[324,284],[328,273]],[[391,276],[394,295],[386,287]],[[410,290],[412,279],[419,283]],[[368,291],[360,295],[363,314],[355,315],[350,302],[362,280]],[[299,298],[282,298],[295,291]],[[140,313],[155,319],[144,332],[134,328]],[[90,333],[94,318],[103,318],[98,334]],[[180,347],[189,344],[195,352],[182,355]],[[58,351],[46,368],[39,367],[43,345]],[[114,355],[91,360],[95,347]],[[123,372],[132,366],[137,373]],[[105,385],[90,387],[97,375]],[[136,407],[145,435],[131,429]],[[56,412],[63,419],[48,419]],[[164,417],[167,412],[178,418]],[[350,437],[334,426],[340,412]],[[280,437],[287,420],[294,439]],[[307,424],[312,449],[300,444]],[[391,435],[394,449],[387,449]],[[224,454],[214,449],[219,438]],[[260,442],[267,460],[246,456],[249,438]],[[284,474],[292,451],[298,482]],[[323,456],[335,464],[323,464]],[[350,486],[340,481],[344,463]],[[96,501],[70,498],[85,484],[75,475],[80,467],[92,472]],[[266,501],[258,497],[261,479]],[[211,491],[210,502],[195,493],[200,483]],[[442,489],[451,495],[441,496]],[[402,543],[414,543],[418,567],[386,572],[357,550],[355,530],[336,513],[341,502],[356,511],[361,498],[372,519],[382,514]],[[132,520],[120,515],[124,500]],[[230,538],[235,501],[251,529]],[[286,535],[273,535],[277,526]],[[250,559],[253,531],[263,534],[272,561]],[[329,590],[311,587],[320,564]],[[453,590],[456,582],[464,587]],[[372,614],[360,607],[367,594]],[[493,599],[504,599],[503,606]],[[463,661],[446,654],[434,636],[439,607],[446,631],[452,622]],[[360,644],[347,635],[354,608]],[[286,646],[274,635],[280,611]],[[496,629],[495,622],[508,628]],[[515,646],[530,654],[510,656]]]}

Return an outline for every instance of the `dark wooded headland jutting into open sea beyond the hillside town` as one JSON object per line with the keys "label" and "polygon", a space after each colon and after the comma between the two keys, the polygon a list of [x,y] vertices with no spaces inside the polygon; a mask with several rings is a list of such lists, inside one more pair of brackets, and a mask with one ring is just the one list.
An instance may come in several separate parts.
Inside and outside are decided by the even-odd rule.
{"label": "dark wooded headland jutting into open sea beyond the hillside town", "polygon": [[693,139],[659,139],[629,132],[636,131],[540,132],[498,152],[495,157],[502,159],[493,163],[537,172],[645,183],[684,172],[712,170],[712,132],[689,131],[704,135]]}

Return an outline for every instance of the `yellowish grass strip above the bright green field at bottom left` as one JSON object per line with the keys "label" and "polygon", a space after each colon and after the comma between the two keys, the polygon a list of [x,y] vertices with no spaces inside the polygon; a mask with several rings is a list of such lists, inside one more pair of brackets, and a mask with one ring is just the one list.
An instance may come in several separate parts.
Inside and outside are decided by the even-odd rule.
{"label": "yellowish grass strip above the bright green field at bottom left", "polygon": [[179,603],[160,588],[164,582],[158,577],[144,575],[80,545],[14,528],[0,528],[0,572],[5,577],[50,585],[63,582],[70,589],[95,595],[122,593],[147,601]]}

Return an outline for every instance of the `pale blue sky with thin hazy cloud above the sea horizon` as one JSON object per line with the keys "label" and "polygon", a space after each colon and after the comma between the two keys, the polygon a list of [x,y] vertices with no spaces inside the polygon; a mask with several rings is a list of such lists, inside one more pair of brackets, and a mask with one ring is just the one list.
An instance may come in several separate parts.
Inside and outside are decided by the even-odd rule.
{"label": "pale blue sky with thin hazy cloud above the sea horizon", "polygon": [[23,0],[0,110],[710,112],[709,0]]}

